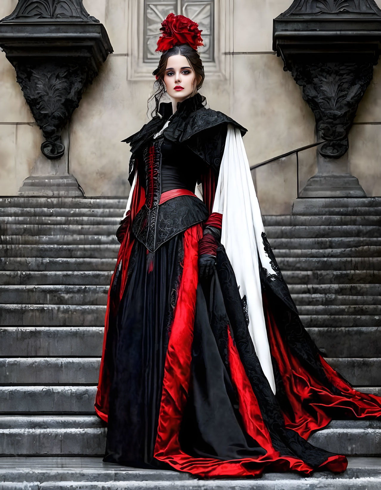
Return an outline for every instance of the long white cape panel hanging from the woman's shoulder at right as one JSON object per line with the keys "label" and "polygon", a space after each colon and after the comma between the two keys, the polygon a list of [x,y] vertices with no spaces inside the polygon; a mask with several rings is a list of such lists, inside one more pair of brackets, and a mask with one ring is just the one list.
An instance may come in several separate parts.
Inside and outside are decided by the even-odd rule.
{"label": "long white cape panel hanging from the woman's shoulder at right", "polygon": [[263,268],[272,273],[272,267],[262,243],[262,214],[241,132],[232,124],[228,125],[213,212],[222,214],[221,243],[236,275],[240,296],[246,295],[250,337],[263,373],[275,393],[258,256]]}

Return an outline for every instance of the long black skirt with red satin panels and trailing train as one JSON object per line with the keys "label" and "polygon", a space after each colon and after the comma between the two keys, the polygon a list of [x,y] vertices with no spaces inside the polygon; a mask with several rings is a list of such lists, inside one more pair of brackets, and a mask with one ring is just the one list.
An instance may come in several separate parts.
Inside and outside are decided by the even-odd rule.
{"label": "long black skirt with red satin panels and trailing train", "polygon": [[[340,407],[348,418],[354,406],[357,417],[380,416],[380,399],[357,396],[327,368],[297,312],[263,283],[274,395],[222,245],[213,275],[197,284],[199,236],[192,228],[155,252],[153,268],[147,268],[145,246],[133,245],[126,287],[106,341],[110,396],[104,461],[170,465],[204,477],[256,476],[266,466],[304,473],[344,470],[345,457],[311,446],[307,436],[337,416]],[[191,299],[187,291],[192,288]],[[181,330],[185,320],[176,322],[180,307],[189,313],[184,317],[188,330]],[[323,406],[321,413],[306,405],[306,393],[289,395],[285,357],[298,377],[304,376],[311,401]]]}

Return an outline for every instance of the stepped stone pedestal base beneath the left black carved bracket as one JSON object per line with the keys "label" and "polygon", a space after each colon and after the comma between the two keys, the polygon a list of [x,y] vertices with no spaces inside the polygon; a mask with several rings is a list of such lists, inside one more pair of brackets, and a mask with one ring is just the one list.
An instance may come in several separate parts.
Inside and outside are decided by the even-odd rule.
{"label": "stepped stone pedestal base beneath the left black carved bracket", "polygon": [[77,179],[71,174],[27,177],[18,194],[25,197],[83,197],[85,195]]}

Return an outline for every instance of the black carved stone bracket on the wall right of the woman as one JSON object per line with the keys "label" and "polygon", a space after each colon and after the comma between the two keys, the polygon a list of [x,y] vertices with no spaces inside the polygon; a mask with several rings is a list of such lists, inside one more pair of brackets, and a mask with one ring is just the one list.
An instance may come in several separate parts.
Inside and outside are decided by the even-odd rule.
{"label": "black carved stone bracket on the wall right of the woman", "polygon": [[[274,19],[273,49],[303,87],[317,137],[326,141],[319,148],[324,172],[336,175],[339,166],[330,170],[328,161],[346,157],[348,133],[380,54],[381,10],[374,0],[295,0]],[[352,177],[345,168],[343,175]]]}

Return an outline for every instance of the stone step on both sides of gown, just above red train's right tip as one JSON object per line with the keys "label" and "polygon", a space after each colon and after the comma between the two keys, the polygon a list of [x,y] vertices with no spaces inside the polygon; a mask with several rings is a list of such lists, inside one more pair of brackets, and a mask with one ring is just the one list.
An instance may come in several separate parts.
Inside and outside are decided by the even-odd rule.
{"label": "stone step on both sides of gown, just above red train's right tip", "polygon": [[[381,358],[327,358],[352,385],[381,386]],[[0,358],[0,385],[95,384],[98,357]]]}

